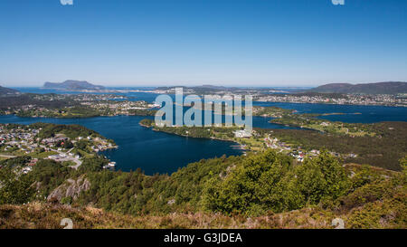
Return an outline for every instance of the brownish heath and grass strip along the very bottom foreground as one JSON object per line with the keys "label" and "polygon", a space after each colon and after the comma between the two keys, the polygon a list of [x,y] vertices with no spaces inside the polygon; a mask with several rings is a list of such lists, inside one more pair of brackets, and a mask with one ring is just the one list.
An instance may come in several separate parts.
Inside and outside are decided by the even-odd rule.
{"label": "brownish heath and grass strip along the very bottom foreground", "polygon": [[394,202],[378,200],[345,212],[333,212],[316,207],[260,217],[226,216],[213,213],[133,216],[107,213],[90,206],[72,208],[61,204],[39,203],[0,205],[0,228],[61,229],[61,220],[70,218],[75,229],[332,229],[334,227],[331,222],[337,217],[345,221],[345,228],[405,228],[405,195],[404,203],[400,199],[400,197],[393,199],[393,201],[398,201],[397,207],[394,206]]}

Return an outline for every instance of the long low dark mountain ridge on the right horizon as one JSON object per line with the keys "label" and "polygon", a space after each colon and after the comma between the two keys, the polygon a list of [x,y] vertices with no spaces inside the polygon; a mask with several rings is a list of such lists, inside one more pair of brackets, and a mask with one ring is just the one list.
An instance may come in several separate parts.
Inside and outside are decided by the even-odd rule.
{"label": "long low dark mountain ridge on the right horizon", "polygon": [[365,84],[331,83],[307,92],[357,93],[357,94],[397,94],[407,93],[407,82],[388,81]]}

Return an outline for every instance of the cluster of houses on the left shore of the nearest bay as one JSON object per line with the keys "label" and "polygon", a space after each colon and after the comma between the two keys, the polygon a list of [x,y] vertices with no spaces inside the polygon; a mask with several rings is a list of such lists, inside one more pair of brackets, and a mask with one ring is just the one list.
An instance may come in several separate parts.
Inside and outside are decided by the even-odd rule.
{"label": "cluster of houses on the left shore of the nearest bay", "polygon": [[[43,128],[34,128],[34,125],[0,125],[0,161],[14,157],[31,157],[30,162],[22,169],[25,174],[42,158],[78,169],[83,158],[117,148],[112,141],[96,135],[72,138],[70,134],[61,131],[52,134],[52,137],[43,138]],[[43,125],[48,128],[51,124]],[[109,162],[103,168],[111,169],[115,166],[115,162]]]}

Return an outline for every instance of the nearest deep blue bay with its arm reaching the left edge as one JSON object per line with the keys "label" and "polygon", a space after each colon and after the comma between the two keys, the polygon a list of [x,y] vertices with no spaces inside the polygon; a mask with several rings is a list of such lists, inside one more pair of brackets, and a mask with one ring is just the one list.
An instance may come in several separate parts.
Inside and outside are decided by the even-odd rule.
{"label": "nearest deep blue bay with its arm reaching the left edge", "polygon": [[242,151],[236,144],[219,140],[184,138],[142,128],[138,122],[145,117],[118,116],[91,119],[37,119],[0,116],[1,123],[31,124],[48,122],[57,124],[80,124],[112,138],[118,149],[103,154],[118,163],[123,171],[141,167],[147,175],[173,173],[179,167],[202,158],[239,156]]}

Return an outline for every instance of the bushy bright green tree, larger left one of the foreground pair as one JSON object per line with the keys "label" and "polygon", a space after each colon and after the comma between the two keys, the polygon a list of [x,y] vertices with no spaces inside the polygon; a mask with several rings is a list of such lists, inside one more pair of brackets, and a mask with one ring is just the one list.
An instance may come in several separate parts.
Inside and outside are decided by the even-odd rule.
{"label": "bushy bright green tree, larger left one of the foreground pair", "polygon": [[274,186],[289,171],[291,159],[268,150],[251,156],[224,180],[215,177],[204,190],[204,206],[223,213],[259,213],[276,209]]}

